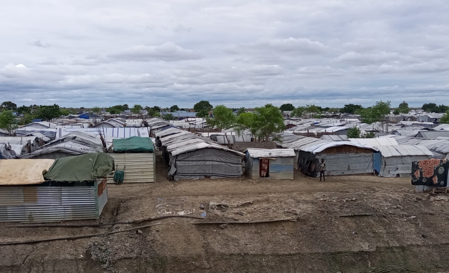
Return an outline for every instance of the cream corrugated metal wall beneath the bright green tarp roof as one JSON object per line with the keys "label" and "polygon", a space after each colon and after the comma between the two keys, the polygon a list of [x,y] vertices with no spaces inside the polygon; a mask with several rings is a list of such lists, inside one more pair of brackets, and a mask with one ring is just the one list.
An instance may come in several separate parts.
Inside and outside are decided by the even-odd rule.
{"label": "cream corrugated metal wall beneath the bright green tarp roof", "polygon": [[[126,165],[123,183],[155,181],[154,170],[156,161],[154,153],[109,155],[114,158],[116,169],[123,170],[123,167]],[[115,183],[113,175],[109,177],[108,183]]]}

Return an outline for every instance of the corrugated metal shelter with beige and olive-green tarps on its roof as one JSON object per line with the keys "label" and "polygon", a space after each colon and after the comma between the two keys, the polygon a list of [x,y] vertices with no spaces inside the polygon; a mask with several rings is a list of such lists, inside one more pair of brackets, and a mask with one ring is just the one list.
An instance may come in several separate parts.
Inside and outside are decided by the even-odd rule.
{"label": "corrugated metal shelter with beige and olive-green tarps on its roof", "polygon": [[0,222],[98,219],[113,165],[105,153],[0,160]]}

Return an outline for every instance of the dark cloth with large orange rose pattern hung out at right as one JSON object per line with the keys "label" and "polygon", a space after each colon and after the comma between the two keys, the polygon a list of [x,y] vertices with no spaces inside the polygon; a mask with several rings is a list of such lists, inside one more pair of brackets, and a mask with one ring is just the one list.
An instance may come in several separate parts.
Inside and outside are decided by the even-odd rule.
{"label": "dark cloth with large orange rose pattern hung out at right", "polygon": [[447,186],[448,162],[446,159],[428,159],[412,162],[412,185]]}

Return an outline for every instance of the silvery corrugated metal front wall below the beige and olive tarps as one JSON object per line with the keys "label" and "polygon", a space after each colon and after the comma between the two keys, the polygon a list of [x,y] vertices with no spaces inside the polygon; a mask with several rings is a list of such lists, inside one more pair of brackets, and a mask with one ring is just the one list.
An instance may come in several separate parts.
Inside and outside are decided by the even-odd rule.
{"label": "silvery corrugated metal front wall below the beige and olive tarps", "polygon": [[[1,186],[0,222],[97,219],[95,188],[95,186]],[[106,191],[103,195],[105,196],[101,196],[101,204],[104,207],[107,202]]]}

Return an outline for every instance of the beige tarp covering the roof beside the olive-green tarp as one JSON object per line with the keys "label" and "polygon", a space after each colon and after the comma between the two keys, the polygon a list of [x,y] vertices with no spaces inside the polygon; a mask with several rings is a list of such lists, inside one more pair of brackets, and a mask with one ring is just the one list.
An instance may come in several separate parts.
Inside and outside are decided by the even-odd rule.
{"label": "beige tarp covering the roof beside the olive-green tarp", "polygon": [[45,182],[43,173],[50,169],[54,159],[0,160],[0,185],[31,185]]}

